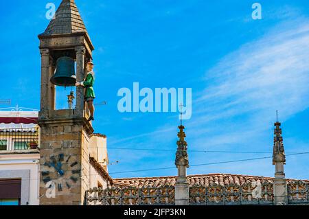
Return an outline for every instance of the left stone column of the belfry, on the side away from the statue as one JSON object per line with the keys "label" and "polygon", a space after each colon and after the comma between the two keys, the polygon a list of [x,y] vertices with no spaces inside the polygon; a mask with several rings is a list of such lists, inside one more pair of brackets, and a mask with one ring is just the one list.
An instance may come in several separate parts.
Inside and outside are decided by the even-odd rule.
{"label": "left stone column of the belfry, on the side away from the statue", "polygon": [[40,49],[41,53],[41,112],[40,117],[46,118],[49,110],[49,49]]}

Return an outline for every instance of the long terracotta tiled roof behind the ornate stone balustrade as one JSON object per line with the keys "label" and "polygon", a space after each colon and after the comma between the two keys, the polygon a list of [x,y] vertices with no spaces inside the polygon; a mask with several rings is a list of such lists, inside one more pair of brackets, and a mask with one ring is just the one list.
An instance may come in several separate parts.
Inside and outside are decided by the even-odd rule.
{"label": "long terracotta tiled roof behind the ornate stone balustrade", "polygon": [[[287,179],[290,181],[299,181],[294,179]],[[254,181],[260,183],[273,183],[272,177],[265,176],[246,176],[236,174],[203,174],[187,176],[187,181],[190,186],[202,185],[208,187],[209,185],[244,185]],[[304,180],[309,182],[308,180]],[[115,187],[161,187],[164,185],[174,186],[176,183],[176,176],[160,176],[160,177],[145,177],[145,178],[114,178]]]}

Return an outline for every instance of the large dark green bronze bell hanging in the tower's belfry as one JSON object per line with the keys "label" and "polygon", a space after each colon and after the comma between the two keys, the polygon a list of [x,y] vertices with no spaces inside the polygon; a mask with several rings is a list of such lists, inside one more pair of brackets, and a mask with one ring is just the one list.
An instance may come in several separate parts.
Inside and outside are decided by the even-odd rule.
{"label": "large dark green bronze bell hanging in the tower's belfry", "polygon": [[58,58],[56,71],[50,82],[62,87],[74,86],[76,84],[74,60],[67,56]]}

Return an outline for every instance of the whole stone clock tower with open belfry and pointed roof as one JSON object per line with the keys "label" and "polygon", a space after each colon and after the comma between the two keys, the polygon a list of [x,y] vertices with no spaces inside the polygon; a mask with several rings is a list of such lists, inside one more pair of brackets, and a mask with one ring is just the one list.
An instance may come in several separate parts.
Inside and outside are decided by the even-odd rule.
{"label": "whole stone clock tower with open belfry and pointed roof", "polygon": [[41,51],[40,205],[82,205],[89,184],[89,135],[84,90],[76,89],[76,108],[56,110],[56,87],[50,82],[56,60],[68,56],[76,62],[76,79],[85,78],[85,62],[93,45],[74,0],[63,0],[43,34]]}

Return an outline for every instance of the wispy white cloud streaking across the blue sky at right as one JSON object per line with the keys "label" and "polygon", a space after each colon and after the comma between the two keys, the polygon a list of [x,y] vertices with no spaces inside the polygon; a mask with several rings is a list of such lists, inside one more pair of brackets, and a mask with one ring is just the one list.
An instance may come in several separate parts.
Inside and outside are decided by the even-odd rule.
{"label": "wispy white cloud streaking across the blue sky at right", "polygon": [[308,108],[308,21],[281,28],[244,45],[207,71],[204,94],[195,102],[199,123],[243,113],[252,113],[250,120],[259,117],[266,122],[276,109],[288,118]]}

